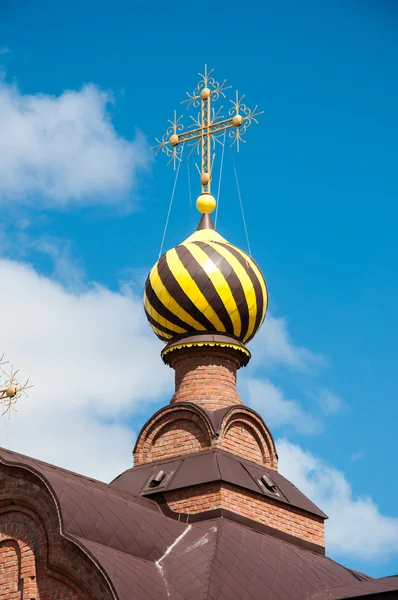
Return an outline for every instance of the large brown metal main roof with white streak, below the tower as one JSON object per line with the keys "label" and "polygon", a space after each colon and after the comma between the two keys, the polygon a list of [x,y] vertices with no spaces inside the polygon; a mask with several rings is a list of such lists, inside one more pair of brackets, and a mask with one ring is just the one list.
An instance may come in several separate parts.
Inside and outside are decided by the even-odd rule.
{"label": "large brown metal main roof with white streak, below the tower", "polygon": [[[211,458],[220,470],[218,459]],[[106,572],[118,600],[337,600],[354,597],[341,595],[347,590],[393,589],[392,580],[370,580],[241,523],[178,523],[151,499],[114,485],[6,450],[0,463],[28,470],[51,489],[67,537]],[[228,468],[223,458],[221,465]]]}

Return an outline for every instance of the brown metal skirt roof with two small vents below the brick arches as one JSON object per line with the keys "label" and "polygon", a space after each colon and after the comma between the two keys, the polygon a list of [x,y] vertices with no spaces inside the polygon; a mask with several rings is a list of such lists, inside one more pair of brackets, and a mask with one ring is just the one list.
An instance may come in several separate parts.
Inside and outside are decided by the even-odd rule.
{"label": "brown metal skirt roof with two small vents below the brick arches", "polygon": [[[204,450],[183,457],[134,467],[119,475],[119,477],[112,481],[111,485],[125,492],[142,494],[145,492],[146,484],[159,466],[166,473],[166,483],[162,487],[155,488],[153,493],[176,490],[202,483],[223,481],[238,485],[252,492],[263,494],[275,501],[301,508],[324,519],[327,518],[327,515],[322,510],[304,496],[290,481],[285,479],[283,475],[273,469],[261,467],[256,463],[230,454],[225,450]],[[143,473],[145,473],[146,477],[144,477]],[[260,479],[264,473],[271,477],[279,495],[267,492],[257,483],[257,479]]]}

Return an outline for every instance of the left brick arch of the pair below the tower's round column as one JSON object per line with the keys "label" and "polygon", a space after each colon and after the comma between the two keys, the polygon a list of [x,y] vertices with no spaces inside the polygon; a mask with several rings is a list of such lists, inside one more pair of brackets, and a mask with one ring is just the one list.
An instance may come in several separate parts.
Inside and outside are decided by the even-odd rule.
{"label": "left brick arch of the pair below the tower's round column", "polygon": [[134,449],[134,463],[141,465],[206,450],[211,440],[210,426],[195,406],[166,407],[142,429]]}

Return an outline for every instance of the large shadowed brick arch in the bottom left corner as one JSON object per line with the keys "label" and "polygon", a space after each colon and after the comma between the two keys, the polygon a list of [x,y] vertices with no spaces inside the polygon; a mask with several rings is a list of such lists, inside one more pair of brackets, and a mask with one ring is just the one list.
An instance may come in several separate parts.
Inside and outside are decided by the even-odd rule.
{"label": "large shadowed brick arch in the bottom left corner", "polygon": [[[25,468],[1,464],[0,472],[4,490],[0,498],[0,543],[11,541],[14,548],[18,546],[21,573],[18,592],[8,597],[0,589],[0,600],[114,598],[96,563],[62,532],[51,489]],[[11,567],[17,589],[15,560]]]}

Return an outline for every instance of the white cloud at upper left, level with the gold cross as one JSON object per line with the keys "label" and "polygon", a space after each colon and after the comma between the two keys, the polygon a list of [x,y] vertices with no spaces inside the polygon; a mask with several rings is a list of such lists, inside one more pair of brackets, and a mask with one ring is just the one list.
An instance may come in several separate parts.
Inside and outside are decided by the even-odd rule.
{"label": "white cloud at upper left, level with the gold cross", "polygon": [[110,101],[91,84],[56,97],[0,82],[0,202],[125,200],[150,159],[142,134],[118,135]]}

